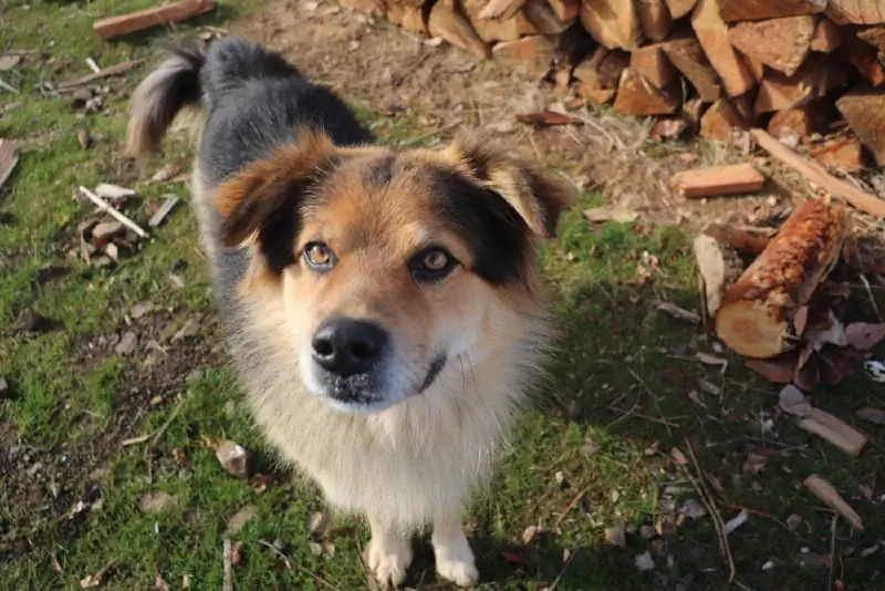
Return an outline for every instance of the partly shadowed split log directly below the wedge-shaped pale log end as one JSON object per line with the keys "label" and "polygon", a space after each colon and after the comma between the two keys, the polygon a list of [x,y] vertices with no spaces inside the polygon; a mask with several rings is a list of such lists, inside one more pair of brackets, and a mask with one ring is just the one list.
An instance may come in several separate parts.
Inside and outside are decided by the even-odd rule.
{"label": "partly shadowed split log directly below the wedge-shaped pale log end", "polygon": [[823,97],[846,80],[845,68],[833,55],[810,54],[792,76],[769,70],[759,83],[756,113],[771,113]]}

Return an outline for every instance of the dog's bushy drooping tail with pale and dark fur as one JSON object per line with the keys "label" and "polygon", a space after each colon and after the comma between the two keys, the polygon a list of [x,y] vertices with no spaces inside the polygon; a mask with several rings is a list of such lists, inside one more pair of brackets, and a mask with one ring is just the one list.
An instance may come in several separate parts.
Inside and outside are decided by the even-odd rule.
{"label": "dog's bushy drooping tail with pale and dark fur", "polygon": [[200,71],[206,51],[196,44],[166,48],[170,53],[145,77],[132,95],[126,153],[144,157],[159,148],[166,129],[186,107],[199,106],[202,97]]}

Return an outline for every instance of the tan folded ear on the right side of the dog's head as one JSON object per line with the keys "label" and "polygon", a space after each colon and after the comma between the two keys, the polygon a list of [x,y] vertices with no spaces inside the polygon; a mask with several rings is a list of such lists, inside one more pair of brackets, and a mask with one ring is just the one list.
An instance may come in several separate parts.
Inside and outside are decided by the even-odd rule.
{"label": "tan folded ear on the right side of the dog's head", "polygon": [[499,195],[540,238],[556,236],[560,214],[575,200],[563,180],[492,147],[485,135],[460,136],[441,156],[470,182]]}

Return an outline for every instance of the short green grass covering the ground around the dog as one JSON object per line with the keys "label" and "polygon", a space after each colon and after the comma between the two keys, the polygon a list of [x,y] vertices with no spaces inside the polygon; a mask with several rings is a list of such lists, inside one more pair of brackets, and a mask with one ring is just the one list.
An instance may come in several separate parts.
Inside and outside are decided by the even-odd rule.
{"label": "short green grass covering the ground around the dog", "polygon": [[[111,90],[105,108],[94,114],[73,110],[66,95],[43,96],[34,86],[41,80],[58,83],[82,74],[86,56],[108,65],[149,55],[150,43],[163,31],[103,43],[91,34],[90,23],[152,3],[96,0],[25,8],[13,2],[2,9],[6,22],[15,23],[14,30],[4,30],[8,46],[37,50],[46,59],[30,54],[4,73],[3,80],[21,94],[0,95],[7,105],[22,103],[0,116],[0,136],[17,139],[22,153],[0,193],[0,376],[12,390],[11,400],[0,401],[0,588],[80,589],[81,579],[114,559],[103,582],[106,589],[152,588],[157,576],[173,589],[185,577],[192,589],[219,589],[222,540],[229,537],[244,549],[235,569],[237,589],[364,589],[358,548],[367,541],[365,527],[342,519],[325,542],[334,549],[316,546],[310,537],[311,516],[322,508],[315,489],[274,468],[272,453],[241,406],[233,376],[217,352],[192,215],[180,208],[152,241],[114,267],[96,268],[66,256],[79,243],[77,225],[90,215],[71,198],[77,185],[136,187],[139,196],[127,214],[140,224],[162,195],[187,197],[181,185],[144,180],[165,162],[188,166],[184,134],[174,136],[164,158],[150,162],[146,172],[118,156],[125,100],[145,69],[128,79],[101,82]],[[220,14],[181,27],[176,34],[247,12],[246,2],[230,6],[226,2]],[[425,133],[408,118],[378,118],[354,98],[361,117],[392,144]],[[97,138],[94,147],[80,147],[79,129]],[[664,299],[696,307],[687,237],[674,228],[591,228],[580,211],[600,203],[598,195],[584,195],[565,215],[559,238],[542,252],[565,335],[551,361],[552,377],[468,519],[483,589],[538,590],[554,580],[560,591],[727,587],[728,572],[717,556],[708,517],[688,519],[654,542],[634,533],[627,536],[626,549],[604,542],[606,528],[624,525],[632,532],[666,519],[673,502],[697,499],[666,457],[673,446],[687,452],[686,437],[733,506],[770,516],[753,514],[730,536],[737,579],[745,589],[826,588],[829,568],[798,568],[793,561],[803,548],[829,559],[833,541],[837,554],[845,554],[836,557],[835,578],[842,577],[848,589],[881,588],[881,560],[861,558],[861,550],[885,537],[885,517],[855,498],[862,485],[882,486],[881,444],[874,440],[861,458],[846,460],[775,416],[777,388],[748,375],[738,360],[725,354],[729,366],[723,374],[695,361],[696,351],[714,352],[706,335],[648,303]],[[649,256],[660,270],[644,286],[636,282],[637,267],[647,266]],[[54,274],[48,269],[55,267],[66,272],[48,279]],[[175,287],[170,273],[184,288]],[[132,319],[133,305],[143,301],[150,301],[155,312]],[[24,307],[63,330],[7,334]],[[862,293],[855,312],[872,318]],[[178,343],[164,340],[163,334],[188,320],[197,322],[196,335]],[[115,340],[128,330],[139,336],[136,356],[114,351]],[[150,341],[163,342],[167,353],[152,354],[145,346]],[[723,387],[721,400],[700,393],[707,409],[688,396],[700,391],[698,379]],[[858,372],[818,395],[815,404],[853,422],[852,409],[881,406],[882,395],[871,392]],[[629,408],[636,415],[628,415]],[[771,429],[762,428],[767,418],[773,421]],[[126,438],[163,427],[155,440],[122,446]],[[205,437],[253,449],[257,469],[274,475],[267,491],[256,492],[226,474]],[[752,450],[770,454],[767,470],[758,477],[741,469]],[[830,514],[798,486],[812,473],[852,499],[866,523],[864,532],[840,523],[832,537]],[[139,499],[155,491],[177,502],[156,514],[139,510]],[[74,511],[79,501],[91,509]],[[231,516],[250,506],[257,518],[228,532]],[[737,514],[721,510],[725,519]],[[783,525],[791,514],[803,518],[795,532]],[[548,531],[558,526],[560,532],[523,543],[532,525]],[[280,554],[262,541],[279,542],[292,569],[281,568]],[[848,548],[854,552],[847,553]],[[436,582],[426,538],[417,550],[413,585],[445,588]],[[659,567],[654,573],[634,567],[634,557],[646,550]],[[54,560],[59,568],[53,568]],[[773,568],[763,568],[769,561]]]}

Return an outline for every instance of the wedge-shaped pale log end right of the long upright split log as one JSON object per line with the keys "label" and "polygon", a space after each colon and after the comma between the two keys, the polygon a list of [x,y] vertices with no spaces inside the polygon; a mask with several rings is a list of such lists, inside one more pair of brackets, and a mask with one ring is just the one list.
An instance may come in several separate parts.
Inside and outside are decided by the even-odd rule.
{"label": "wedge-shaped pale log end right of the long upright split log", "polygon": [[739,22],[728,30],[728,39],[745,55],[791,76],[809,53],[814,21],[815,17],[805,14]]}

